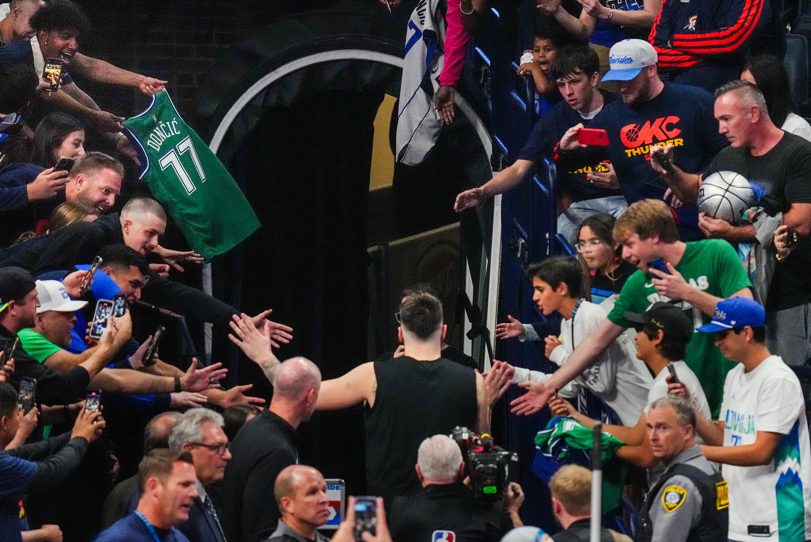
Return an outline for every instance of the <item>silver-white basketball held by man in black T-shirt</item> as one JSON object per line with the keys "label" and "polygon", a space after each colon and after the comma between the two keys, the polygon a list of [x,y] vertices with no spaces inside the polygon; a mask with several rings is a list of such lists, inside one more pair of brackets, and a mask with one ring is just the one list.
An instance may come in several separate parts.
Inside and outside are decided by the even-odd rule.
{"label": "silver-white basketball held by man in black T-shirt", "polygon": [[746,209],[757,202],[755,191],[743,175],[718,171],[707,175],[698,187],[698,211],[738,226]]}

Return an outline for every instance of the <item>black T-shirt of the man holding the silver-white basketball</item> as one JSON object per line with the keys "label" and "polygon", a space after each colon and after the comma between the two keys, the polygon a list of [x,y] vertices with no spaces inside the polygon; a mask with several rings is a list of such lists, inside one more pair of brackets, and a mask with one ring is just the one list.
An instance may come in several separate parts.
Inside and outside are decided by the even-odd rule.
{"label": "black T-shirt of the man holding the silver-white basketball", "polygon": [[[776,211],[784,213],[793,203],[811,203],[811,142],[799,135],[783,132],[778,144],[760,157],[753,157],[747,148],[724,148],[707,167],[704,178],[717,171],[734,171],[750,183],[760,184]],[[811,245],[804,239],[796,255],[775,266],[766,312],[809,301],[809,260]]]}

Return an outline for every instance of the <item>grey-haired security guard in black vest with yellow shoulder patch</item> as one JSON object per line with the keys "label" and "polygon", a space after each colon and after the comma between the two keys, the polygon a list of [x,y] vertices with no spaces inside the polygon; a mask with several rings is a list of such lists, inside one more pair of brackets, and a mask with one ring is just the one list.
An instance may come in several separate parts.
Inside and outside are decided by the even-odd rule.
{"label": "grey-haired security guard in black vest with yellow shoulder patch", "polygon": [[693,440],[696,415],[690,402],[667,395],[650,406],[647,435],[665,465],[642,508],[651,542],[726,542],[727,482]]}

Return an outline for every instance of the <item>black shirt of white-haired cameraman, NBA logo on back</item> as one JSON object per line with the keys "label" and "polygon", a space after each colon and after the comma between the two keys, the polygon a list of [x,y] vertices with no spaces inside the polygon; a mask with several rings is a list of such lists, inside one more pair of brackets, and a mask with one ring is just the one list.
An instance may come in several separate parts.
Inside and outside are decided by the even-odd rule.
{"label": "black shirt of white-haired cameraman, NBA logo on back", "polygon": [[512,528],[500,501],[478,501],[461,482],[431,484],[410,497],[396,497],[388,512],[393,542],[429,542],[436,540],[434,531],[452,531],[453,542],[498,542]]}

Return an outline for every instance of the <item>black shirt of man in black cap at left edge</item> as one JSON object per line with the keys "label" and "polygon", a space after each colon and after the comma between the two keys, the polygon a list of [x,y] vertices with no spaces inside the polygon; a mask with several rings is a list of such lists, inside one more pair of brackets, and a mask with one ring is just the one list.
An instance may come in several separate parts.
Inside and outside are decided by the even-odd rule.
{"label": "black shirt of man in black cap at left edge", "polygon": [[[15,334],[0,325],[0,350],[10,352]],[[11,385],[19,389],[24,376],[36,380],[36,402],[43,405],[69,405],[84,397],[90,384],[90,374],[84,367],[75,367],[68,372],[56,372],[45,363],[40,363],[26,354],[22,346],[14,352],[14,374]]]}

